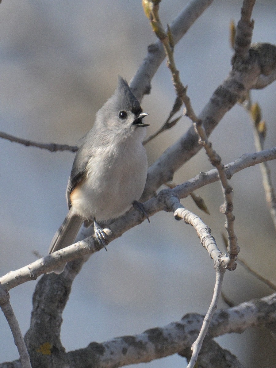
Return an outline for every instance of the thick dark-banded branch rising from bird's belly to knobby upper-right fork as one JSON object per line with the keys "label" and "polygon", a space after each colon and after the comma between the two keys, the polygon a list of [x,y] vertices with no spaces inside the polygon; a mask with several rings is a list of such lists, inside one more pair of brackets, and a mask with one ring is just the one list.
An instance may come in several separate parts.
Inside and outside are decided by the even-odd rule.
{"label": "thick dark-banded branch rising from bird's belly to knobby upper-right fork", "polygon": [[[249,68],[250,65],[250,68]],[[198,118],[202,121],[206,135],[209,137],[224,114],[252,88],[260,75],[260,68],[256,59],[248,60],[248,70],[233,68],[225,81],[216,89]],[[173,174],[192,156],[201,145],[193,127],[159,157],[148,170],[148,178],[143,199],[155,195],[160,185],[171,181]]]}

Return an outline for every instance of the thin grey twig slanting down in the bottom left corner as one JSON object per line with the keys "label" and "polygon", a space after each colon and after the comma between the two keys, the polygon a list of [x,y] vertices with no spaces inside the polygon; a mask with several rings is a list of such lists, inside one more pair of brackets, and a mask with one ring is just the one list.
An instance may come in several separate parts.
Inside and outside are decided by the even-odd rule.
{"label": "thin grey twig slanting down in the bottom left corner", "polygon": [[10,295],[4,289],[4,287],[0,284],[0,307],[4,316],[7,319],[8,325],[10,326],[11,333],[13,334],[14,343],[17,347],[20,362],[22,368],[32,368],[30,357],[24,342],[24,338],[22,336],[18,321],[15,317],[13,308],[10,304]]}

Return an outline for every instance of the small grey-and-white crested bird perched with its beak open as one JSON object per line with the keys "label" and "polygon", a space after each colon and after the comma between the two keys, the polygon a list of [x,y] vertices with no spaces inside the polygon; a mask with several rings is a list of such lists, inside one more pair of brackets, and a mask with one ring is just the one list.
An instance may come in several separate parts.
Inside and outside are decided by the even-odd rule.
{"label": "small grey-and-white crested bird perched with its beak open", "polygon": [[82,138],[66,190],[69,212],[53,237],[49,254],[73,244],[85,220],[94,221],[94,233],[105,247],[106,234],[98,222],[122,215],[141,197],[148,172],[142,145],[149,125],[142,123],[146,115],[127,82],[119,77],[114,95]]}

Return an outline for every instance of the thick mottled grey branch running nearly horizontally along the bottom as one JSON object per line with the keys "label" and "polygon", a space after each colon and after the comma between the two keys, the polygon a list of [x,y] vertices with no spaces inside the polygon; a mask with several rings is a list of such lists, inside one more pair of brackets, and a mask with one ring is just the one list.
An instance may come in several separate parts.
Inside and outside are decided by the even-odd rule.
{"label": "thick mottled grey branch running nearly horizontally along the bottom", "polygon": [[[32,367],[42,367],[42,358],[47,358],[53,368],[68,366],[112,368],[149,362],[176,353],[187,356],[203,319],[204,316],[198,314],[186,314],[180,321],[172,322],[164,327],[152,328],[138,335],[116,337],[103,343],[92,342],[86,348],[68,353],[57,351],[54,347],[50,349],[49,355],[33,351],[31,353]],[[276,294],[244,302],[234,308],[218,310],[210,323],[206,343],[212,341],[210,339],[213,337],[225,333],[241,333],[249,327],[265,326],[274,323],[275,320]],[[204,346],[203,344],[203,349]],[[18,362],[12,362],[9,365],[0,364],[0,368],[4,367],[18,368]],[[222,365],[221,367],[235,366]]]}

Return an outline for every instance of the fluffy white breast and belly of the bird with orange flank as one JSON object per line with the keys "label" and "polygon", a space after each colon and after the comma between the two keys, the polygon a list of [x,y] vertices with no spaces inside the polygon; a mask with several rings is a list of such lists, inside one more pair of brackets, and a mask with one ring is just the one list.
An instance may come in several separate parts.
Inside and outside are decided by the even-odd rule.
{"label": "fluffy white breast and belly of the bird with orange flank", "polygon": [[141,197],[148,162],[141,141],[134,138],[120,149],[114,145],[99,148],[88,162],[87,178],[71,196],[72,206],[80,216],[95,217],[99,222],[116,218]]}

